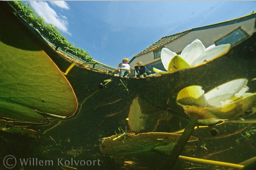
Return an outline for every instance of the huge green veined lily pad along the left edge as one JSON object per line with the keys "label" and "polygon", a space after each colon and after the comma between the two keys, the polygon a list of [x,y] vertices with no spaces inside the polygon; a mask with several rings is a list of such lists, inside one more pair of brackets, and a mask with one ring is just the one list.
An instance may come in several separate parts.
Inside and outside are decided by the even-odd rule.
{"label": "huge green veined lily pad along the left edge", "polygon": [[65,76],[22,24],[0,16],[0,118],[45,123],[43,114],[72,116],[77,99]]}

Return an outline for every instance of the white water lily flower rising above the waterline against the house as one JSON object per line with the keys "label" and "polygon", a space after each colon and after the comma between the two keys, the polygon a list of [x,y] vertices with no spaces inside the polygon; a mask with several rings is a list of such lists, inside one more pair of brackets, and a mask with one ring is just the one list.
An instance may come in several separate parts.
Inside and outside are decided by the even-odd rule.
{"label": "white water lily flower rising above the waterline against the house", "polygon": [[153,70],[159,74],[167,74],[186,68],[201,66],[228,53],[229,48],[230,44],[211,45],[205,48],[198,39],[187,45],[180,55],[177,55],[168,48],[163,48],[161,51],[161,61],[167,71],[156,68],[153,68]]}

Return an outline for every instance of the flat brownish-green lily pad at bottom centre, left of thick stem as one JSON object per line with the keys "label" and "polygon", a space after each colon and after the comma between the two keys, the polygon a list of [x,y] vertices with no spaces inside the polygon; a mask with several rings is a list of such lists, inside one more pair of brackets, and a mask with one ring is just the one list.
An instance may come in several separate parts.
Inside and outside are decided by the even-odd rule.
{"label": "flat brownish-green lily pad at bottom centre, left of thick stem", "polygon": [[[103,140],[100,144],[100,151],[108,156],[131,156],[145,152],[162,152],[168,154],[178,141],[181,134],[148,132],[148,133],[127,133],[124,139],[113,140],[117,135],[112,135]],[[196,141],[191,136],[188,142]],[[192,147],[195,149],[195,147]]]}

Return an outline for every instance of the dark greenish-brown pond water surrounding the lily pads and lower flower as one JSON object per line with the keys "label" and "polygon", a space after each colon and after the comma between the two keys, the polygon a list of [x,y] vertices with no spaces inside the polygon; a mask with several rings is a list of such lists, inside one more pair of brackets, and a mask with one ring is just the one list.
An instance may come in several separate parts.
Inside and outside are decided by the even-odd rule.
{"label": "dark greenish-brown pond water surrounding the lily pads and lower flower", "polygon": [[[41,51],[45,56],[50,57],[49,61],[52,60],[51,62],[56,64],[59,71],[65,73],[71,65],[69,59],[56,53],[9,10],[1,7],[0,15],[1,70],[6,67],[3,63],[7,63],[7,61],[3,62],[5,58],[3,55],[7,53],[6,49],[10,48],[17,50],[17,54],[21,56],[22,50]],[[3,22],[5,23],[2,24]],[[165,155],[145,152],[131,156],[110,157],[100,151],[100,143],[104,137],[124,133],[122,130],[119,131],[120,127],[124,131],[126,129],[127,132],[135,133],[176,132],[184,129],[189,117],[182,107],[177,105],[176,97],[178,92],[187,86],[199,85],[207,92],[233,79],[246,78],[249,92],[256,92],[255,36],[254,34],[232,47],[228,54],[210,63],[158,77],[123,79],[75,64],[65,75],[77,99],[78,106],[75,114],[66,119],[60,119],[40,113],[46,117],[47,123],[28,125],[15,121],[10,128],[6,125],[7,122],[3,122],[0,131],[0,169],[10,169],[15,165],[15,160],[16,165],[11,168],[15,170],[162,169],[167,160]],[[17,63],[14,64],[15,62],[10,60],[8,64],[18,66]],[[27,63],[27,67],[30,65],[31,63]],[[1,74],[1,76],[0,80],[3,81],[7,75]],[[30,80],[36,79],[31,76]],[[62,83],[60,80],[59,82]],[[103,88],[99,86],[102,82],[105,82]],[[18,87],[22,88],[23,85],[19,84]],[[0,90],[1,97],[4,98],[4,92]],[[25,104],[24,106],[28,107]],[[10,115],[12,114],[6,113],[3,109],[0,112],[2,120],[10,121]],[[243,123],[241,119],[237,122],[227,120],[218,125],[194,129],[192,135],[198,140],[190,142],[189,145],[193,146],[193,149],[184,150],[182,155],[236,164],[254,157],[255,115],[252,114],[243,119],[249,120],[249,123]],[[122,138],[117,140],[124,144],[129,142],[126,139],[122,141]],[[9,162],[5,162],[8,158],[10,158]],[[228,168],[177,160],[173,169],[224,170]]]}

